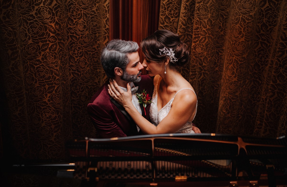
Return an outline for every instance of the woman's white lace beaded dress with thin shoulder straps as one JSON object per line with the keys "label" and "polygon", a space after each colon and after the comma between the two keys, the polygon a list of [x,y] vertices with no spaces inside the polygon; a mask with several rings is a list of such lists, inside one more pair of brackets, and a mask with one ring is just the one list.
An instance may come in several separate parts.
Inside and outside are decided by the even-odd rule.
{"label": "woman's white lace beaded dress with thin shoulder straps", "polygon": [[[159,78],[158,78],[159,80]],[[168,114],[168,112],[171,109],[171,104],[175,98],[175,96],[177,95],[177,93],[179,93],[179,91],[183,90],[183,89],[191,89],[191,88],[182,88],[179,91],[177,91],[177,93],[174,94],[174,97],[164,106],[162,107],[162,109],[160,109],[160,111],[158,112],[158,82],[156,83],[156,86],[154,87],[154,93],[152,94],[152,103],[150,105],[150,119],[152,124],[154,124],[155,126],[158,126],[158,124],[161,122],[161,120],[163,118],[165,118]],[[194,90],[191,89],[193,92]],[[194,92],[195,94],[195,92]],[[196,96],[196,94],[195,94]],[[196,110],[197,110],[197,102],[196,102]],[[196,111],[195,111],[195,115],[196,115]],[[194,115],[194,117],[195,117]],[[193,117],[193,119],[194,119]],[[187,122],[179,131],[177,131],[176,133],[194,133],[194,131],[192,130],[192,121],[191,122]]]}

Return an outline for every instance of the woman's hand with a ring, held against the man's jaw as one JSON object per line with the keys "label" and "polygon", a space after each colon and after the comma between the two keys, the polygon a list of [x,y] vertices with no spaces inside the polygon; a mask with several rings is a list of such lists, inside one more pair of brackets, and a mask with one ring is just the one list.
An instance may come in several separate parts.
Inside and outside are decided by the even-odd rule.
{"label": "woman's hand with a ring, held against the man's jaw", "polygon": [[127,92],[121,89],[115,80],[110,79],[110,84],[108,85],[108,93],[112,98],[114,98],[121,106],[127,107],[133,105],[131,101],[131,86],[127,84]]}

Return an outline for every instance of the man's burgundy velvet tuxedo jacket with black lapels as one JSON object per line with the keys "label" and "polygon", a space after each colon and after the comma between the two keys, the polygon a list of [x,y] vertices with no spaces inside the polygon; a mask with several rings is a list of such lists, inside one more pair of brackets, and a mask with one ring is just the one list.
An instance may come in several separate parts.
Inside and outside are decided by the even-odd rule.
{"label": "man's burgundy velvet tuxedo jacket with black lapels", "polygon": [[[123,106],[108,94],[108,84],[109,82],[106,81],[100,87],[87,106],[88,114],[98,132],[98,137],[113,138],[139,135],[131,116],[125,111]],[[152,96],[154,85],[150,76],[141,75],[141,81],[134,84],[139,86],[137,93],[145,89]],[[146,115],[144,114],[143,105],[140,104],[140,106],[142,115],[150,121],[150,104],[146,107]]]}

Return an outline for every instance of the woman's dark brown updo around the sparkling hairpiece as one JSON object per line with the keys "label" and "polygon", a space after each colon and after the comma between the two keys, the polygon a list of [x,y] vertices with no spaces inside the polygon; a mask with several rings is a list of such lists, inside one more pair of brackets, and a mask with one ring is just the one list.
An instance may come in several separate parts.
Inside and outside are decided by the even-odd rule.
{"label": "woman's dark brown updo around the sparkling hairpiece", "polygon": [[162,62],[166,61],[167,55],[160,54],[160,49],[166,47],[168,50],[174,50],[174,57],[178,60],[175,63],[171,61],[171,66],[183,66],[189,62],[189,51],[187,45],[180,41],[179,35],[169,30],[157,30],[154,34],[144,38],[141,41],[141,51],[148,61]]}

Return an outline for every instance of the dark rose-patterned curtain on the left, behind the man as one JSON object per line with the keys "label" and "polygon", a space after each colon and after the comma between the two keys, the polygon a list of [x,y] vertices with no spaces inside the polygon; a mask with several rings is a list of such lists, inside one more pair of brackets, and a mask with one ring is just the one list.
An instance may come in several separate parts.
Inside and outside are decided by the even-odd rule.
{"label": "dark rose-patterned curtain on the left, behind the man", "polygon": [[108,0],[1,1],[4,153],[59,159],[67,140],[96,136],[86,106],[104,82],[108,10]]}

